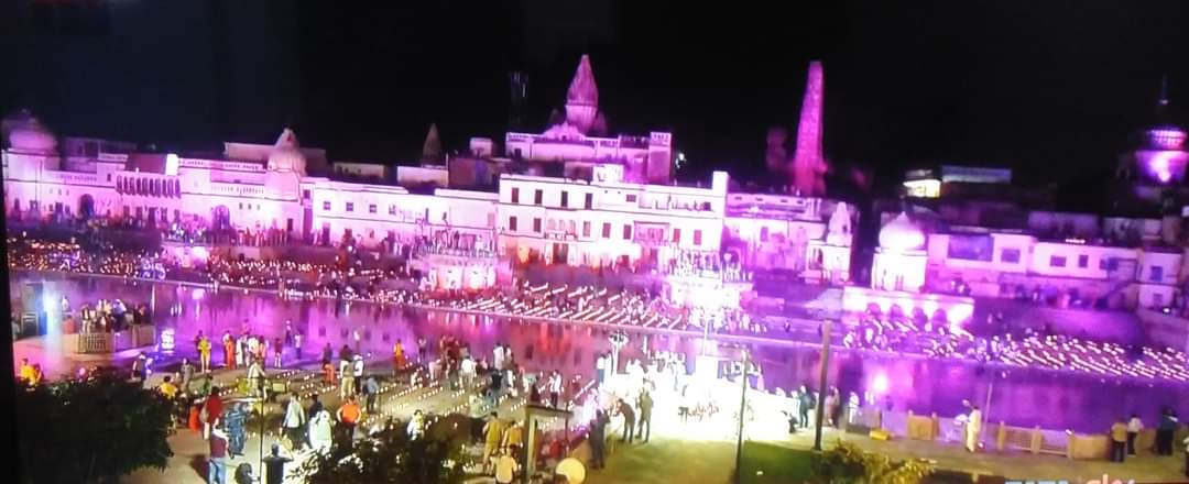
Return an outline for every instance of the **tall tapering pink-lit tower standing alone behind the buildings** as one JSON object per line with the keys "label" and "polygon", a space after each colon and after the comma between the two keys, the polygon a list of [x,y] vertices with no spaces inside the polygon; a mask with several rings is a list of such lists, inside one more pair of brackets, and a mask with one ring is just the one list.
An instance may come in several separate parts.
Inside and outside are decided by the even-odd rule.
{"label": "tall tapering pink-lit tower standing alone behind the buildings", "polygon": [[822,98],[825,95],[822,62],[810,62],[801,101],[801,120],[797,125],[797,152],[789,166],[793,187],[803,196],[825,195],[826,163],[822,153]]}

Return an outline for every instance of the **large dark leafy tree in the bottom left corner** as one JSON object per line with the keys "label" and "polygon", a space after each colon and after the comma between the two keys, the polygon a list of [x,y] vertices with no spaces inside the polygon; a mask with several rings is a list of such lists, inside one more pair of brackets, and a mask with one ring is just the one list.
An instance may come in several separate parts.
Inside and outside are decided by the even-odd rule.
{"label": "large dark leafy tree in the bottom left corner", "polygon": [[20,388],[15,403],[27,483],[117,483],[174,454],[172,403],[114,375]]}

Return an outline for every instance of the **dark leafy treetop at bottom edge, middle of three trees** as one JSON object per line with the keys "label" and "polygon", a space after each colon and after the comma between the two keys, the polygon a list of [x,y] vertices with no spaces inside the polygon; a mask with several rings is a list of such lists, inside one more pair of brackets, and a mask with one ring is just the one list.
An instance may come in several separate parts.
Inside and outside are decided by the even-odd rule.
{"label": "dark leafy treetop at bottom edge, middle of three trees", "polygon": [[459,483],[461,446],[446,438],[410,440],[403,422],[390,421],[377,434],[357,441],[354,451],[338,446],[314,454],[294,473],[307,484]]}

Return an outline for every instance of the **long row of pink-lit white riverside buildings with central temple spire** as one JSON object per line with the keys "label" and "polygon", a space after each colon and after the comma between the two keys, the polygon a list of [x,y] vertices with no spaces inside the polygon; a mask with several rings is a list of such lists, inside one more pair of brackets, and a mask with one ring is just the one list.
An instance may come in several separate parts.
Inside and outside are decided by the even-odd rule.
{"label": "long row of pink-lit white riverside buildings with central temple spire", "polygon": [[[811,282],[850,279],[854,207],[732,191],[722,171],[709,183],[674,183],[671,133],[605,134],[587,57],[571,83],[565,117],[555,118],[540,134],[508,133],[503,150],[472,139],[458,156],[472,172],[457,175],[466,169],[448,158],[427,159],[398,166],[394,181],[394,170],[382,164],[332,163],[288,128],[275,143],[225,143],[218,153],[146,153],[127,143],[59,143],[19,112],[4,124],[5,209],[25,220],[105,218],[382,250],[420,239],[504,262],[660,275],[692,264],[716,272],[789,270]],[[474,166],[485,174],[477,176]],[[493,282],[482,279],[442,285]]]}

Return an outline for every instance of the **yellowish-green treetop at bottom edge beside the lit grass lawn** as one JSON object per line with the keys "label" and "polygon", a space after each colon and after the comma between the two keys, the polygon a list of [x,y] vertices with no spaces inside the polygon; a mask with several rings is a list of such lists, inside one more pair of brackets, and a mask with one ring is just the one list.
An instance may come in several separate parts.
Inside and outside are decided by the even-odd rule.
{"label": "yellowish-green treetop at bottom edge beside the lit grass lawn", "polygon": [[887,455],[863,452],[841,440],[814,455],[811,466],[813,482],[826,484],[917,484],[933,472],[932,465],[921,460],[893,463]]}

